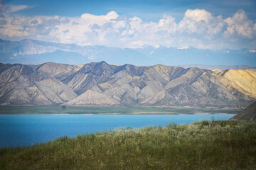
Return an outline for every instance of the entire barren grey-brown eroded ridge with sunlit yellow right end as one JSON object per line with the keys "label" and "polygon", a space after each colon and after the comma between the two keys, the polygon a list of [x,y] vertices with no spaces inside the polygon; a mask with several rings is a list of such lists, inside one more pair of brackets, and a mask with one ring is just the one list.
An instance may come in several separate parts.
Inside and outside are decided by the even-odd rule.
{"label": "entire barren grey-brown eroded ridge with sunlit yellow right end", "polygon": [[1,105],[237,107],[256,99],[256,69],[0,64],[0,84]]}

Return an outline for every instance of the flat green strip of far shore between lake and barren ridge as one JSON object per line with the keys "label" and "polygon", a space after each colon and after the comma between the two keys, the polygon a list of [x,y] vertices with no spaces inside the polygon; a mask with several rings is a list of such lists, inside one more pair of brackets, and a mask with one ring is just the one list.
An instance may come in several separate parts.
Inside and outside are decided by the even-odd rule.
{"label": "flat green strip of far shore between lake and barren ridge", "polygon": [[0,106],[0,115],[32,114],[99,114],[99,115],[191,115],[191,114],[236,114],[242,108],[199,108],[181,106],[113,106],[73,107],[68,106]]}

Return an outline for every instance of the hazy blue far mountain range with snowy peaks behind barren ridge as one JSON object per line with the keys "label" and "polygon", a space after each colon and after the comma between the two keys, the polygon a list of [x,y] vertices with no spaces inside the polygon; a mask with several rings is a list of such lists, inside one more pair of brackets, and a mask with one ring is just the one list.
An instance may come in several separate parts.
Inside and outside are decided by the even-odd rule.
{"label": "hazy blue far mountain range with snowy peaks behind barren ridge", "polygon": [[[139,48],[118,48],[99,45],[79,46],[29,39],[21,41],[0,40],[0,62],[2,63],[41,64],[44,62],[57,62],[80,64],[100,62],[102,60],[112,64],[129,63],[138,66],[154,64],[182,66],[184,64],[199,63],[215,65],[216,67],[205,67],[203,65],[188,65],[187,67],[223,70],[255,67],[256,52],[255,50],[246,49],[206,50],[195,47],[177,48],[161,45],[144,45]],[[223,64],[235,65],[235,67],[221,66]]]}

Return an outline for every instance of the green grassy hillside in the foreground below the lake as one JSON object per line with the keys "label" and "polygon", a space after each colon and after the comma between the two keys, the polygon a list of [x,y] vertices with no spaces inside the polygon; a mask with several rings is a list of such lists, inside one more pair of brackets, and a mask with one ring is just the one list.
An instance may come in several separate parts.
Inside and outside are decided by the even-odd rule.
{"label": "green grassy hillside in the foreground below the lake", "polygon": [[119,129],[0,149],[0,169],[256,169],[256,121]]}

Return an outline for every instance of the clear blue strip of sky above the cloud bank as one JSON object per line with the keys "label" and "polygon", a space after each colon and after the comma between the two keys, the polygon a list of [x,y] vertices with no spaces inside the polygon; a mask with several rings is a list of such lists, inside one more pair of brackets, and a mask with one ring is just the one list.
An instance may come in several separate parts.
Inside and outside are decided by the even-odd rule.
{"label": "clear blue strip of sky above the cloud bank", "polygon": [[122,16],[138,16],[144,21],[158,21],[163,14],[171,14],[177,21],[183,17],[183,13],[190,8],[203,8],[213,15],[222,15],[225,18],[233,15],[239,9],[247,12],[249,18],[256,18],[256,1],[229,0],[94,0],[94,1],[59,1],[59,0],[9,0],[7,5],[27,5],[26,10],[17,11],[17,14],[26,16],[81,16],[83,13],[104,15],[110,11],[116,11]]}

